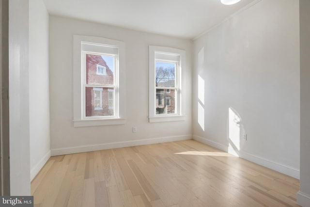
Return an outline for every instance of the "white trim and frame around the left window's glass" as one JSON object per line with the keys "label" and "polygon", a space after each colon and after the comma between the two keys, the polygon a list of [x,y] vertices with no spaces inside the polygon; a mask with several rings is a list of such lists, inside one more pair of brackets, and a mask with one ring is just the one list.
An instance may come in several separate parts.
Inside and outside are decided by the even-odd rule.
{"label": "white trim and frame around the left window's glass", "polygon": [[[83,118],[83,70],[81,69],[82,63],[82,50],[81,43],[87,42],[94,44],[95,50],[90,50],[93,53],[102,53],[100,47],[97,45],[106,46],[110,48],[111,51],[115,47],[118,47],[118,57],[119,57],[119,80],[118,81],[118,91],[115,91],[115,95],[118,95],[118,103],[114,101],[115,109],[119,109],[115,117],[91,117]],[[123,125],[125,124],[125,44],[122,41],[111,40],[102,37],[93,36],[83,36],[83,35],[73,35],[73,124],[74,127],[90,127],[90,126],[105,126],[105,125]],[[85,49],[84,49],[85,51]],[[112,52],[111,52],[112,54]]]}

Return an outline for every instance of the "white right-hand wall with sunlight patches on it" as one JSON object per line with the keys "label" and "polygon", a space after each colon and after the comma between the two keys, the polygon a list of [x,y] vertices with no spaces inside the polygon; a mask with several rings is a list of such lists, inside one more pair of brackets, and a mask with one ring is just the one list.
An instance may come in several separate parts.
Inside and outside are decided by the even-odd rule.
{"label": "white right-hand wall with sunlight patches on it", "polygon": [[194,45],[194,138],[298,178],[298,1],[259,1]]}

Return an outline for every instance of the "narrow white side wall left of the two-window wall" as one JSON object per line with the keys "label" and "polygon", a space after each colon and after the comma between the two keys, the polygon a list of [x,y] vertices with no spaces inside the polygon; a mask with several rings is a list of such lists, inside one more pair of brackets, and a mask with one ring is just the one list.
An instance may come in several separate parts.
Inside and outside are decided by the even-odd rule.
{"label": "narrow white side wall left of the two-window wall", "polygon": [[29,110],[31,180],[50,157],[48,13],[43,0],[29,1]]}

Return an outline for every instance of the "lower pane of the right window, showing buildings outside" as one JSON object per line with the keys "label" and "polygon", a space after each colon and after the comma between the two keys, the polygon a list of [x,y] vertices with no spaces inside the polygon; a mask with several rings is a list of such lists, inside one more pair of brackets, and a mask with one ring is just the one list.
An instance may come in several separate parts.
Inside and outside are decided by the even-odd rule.
{"label": "lower pane of the right window, showing buildings outside", "polygon": [[176,113],[175,94],[177,90],[167,93],[164,89],[156,89],[156,114]]}

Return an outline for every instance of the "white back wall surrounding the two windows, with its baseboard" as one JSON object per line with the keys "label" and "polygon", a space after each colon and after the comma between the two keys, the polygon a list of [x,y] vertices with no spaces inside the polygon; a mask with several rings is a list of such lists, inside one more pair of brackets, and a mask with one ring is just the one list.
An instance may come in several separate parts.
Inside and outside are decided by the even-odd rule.
{"label": "white back wall surrounding the two windows, with its baseboard", "polygon": [[[52,155],[191,138],[191,41],[58,16],[50,16],[49,20]],[[124,41],[126,47],[125,125],[73,127],[72,44],[74,34]],[[186,121],[148,122],[149,45],[186,50],[187,67],[183,74],[186,77],[183,91],[186,97]],[[132,127],[137,127],[136,133],[132,132]]]}

